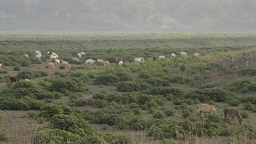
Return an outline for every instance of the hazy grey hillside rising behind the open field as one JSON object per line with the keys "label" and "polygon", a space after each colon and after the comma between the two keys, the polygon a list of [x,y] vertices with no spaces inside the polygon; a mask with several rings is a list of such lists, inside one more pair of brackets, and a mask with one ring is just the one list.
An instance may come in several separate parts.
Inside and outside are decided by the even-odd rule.
{"label": "hazy grey hillside rising behind the open field", "polygon": [[256,30],[255,0],[0,0],[0,30]]}

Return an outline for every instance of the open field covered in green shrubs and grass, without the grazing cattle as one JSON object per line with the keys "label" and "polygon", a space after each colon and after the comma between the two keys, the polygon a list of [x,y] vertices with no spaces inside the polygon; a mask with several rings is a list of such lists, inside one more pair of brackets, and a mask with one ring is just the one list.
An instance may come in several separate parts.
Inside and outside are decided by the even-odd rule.
{"label": "open field covered in green shrubs and grass, without the grazing cattle", "polygon": [[[48,51],[71,68],[48,68]],[[86,55],[75,62],[78,52]],[[148,60],[160,55],[166,59]],[[145,61],[133,62],[140,57]],[[85,66],[88,58],[111,65]],[[0,63],[3,144],[255,143],[255,32],[0,32]],[[11,86],[10,76],[20,82]],[[250,116],[242,125],[216,114],[201,120],[201,102],[219,114],[232,108]],[[39,124],[38,117],[47,120]]]}

